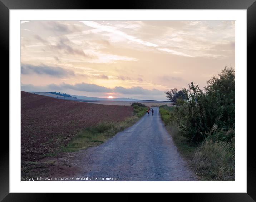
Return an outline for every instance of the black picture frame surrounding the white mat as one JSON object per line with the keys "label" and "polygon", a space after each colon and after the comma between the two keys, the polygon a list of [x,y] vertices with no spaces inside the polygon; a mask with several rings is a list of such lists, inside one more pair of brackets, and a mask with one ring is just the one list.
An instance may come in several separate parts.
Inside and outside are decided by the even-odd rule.
{"label": "black picture frame surrounding the white mat", "polygon": [[[100,1],[99,3],[98,1],[88,0],[0,0],[0,47],[2,63],[4,62],[5,66],[9,66],[10,9],[246,9],[247,66],[252,68],[252,65],[255,64],[253,63],[255,61],[253,50],[256,47],[256,0],[130,0],[127,4],[123,1]],[[253,158],[253,135],[253,133],[247,135],[247,193],[172,194],[171,197],[178,197],[179,201],[256,201],[256,165]],[[9,137],[6,133],[2,133],[2,141],[5,143],[1,144],[0,147],[0,201],[51,201],[61,197],[49,193],[10,194],[9,144],[7,144]],[[65,200],[74,201],[77,196],[66,194],[64,197]],[[111,196],[104,196],[105,199],[106,197],[113,199]],[[122,196],[123,200],[129,200],[129,198],[130,195]]]}

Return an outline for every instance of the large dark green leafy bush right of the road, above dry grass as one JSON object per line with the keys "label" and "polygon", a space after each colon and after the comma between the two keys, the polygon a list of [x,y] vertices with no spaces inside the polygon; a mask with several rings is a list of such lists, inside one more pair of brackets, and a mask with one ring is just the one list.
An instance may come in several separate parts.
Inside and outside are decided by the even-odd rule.
{"label": "large dark green leafy bush right of the road, above dry grass", "polygon": [[[186,99],[178,100],[175,108],[182,136],[199,143],[213,125],[223,133],[235,127],[235,70],[225,67],[218,77],[207,82],[205,92],[193,82],[182,91]],[[234,136],[230,133],[226,141]]]}

